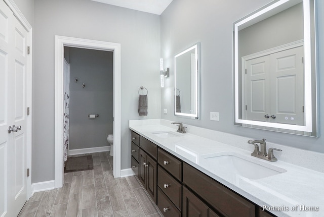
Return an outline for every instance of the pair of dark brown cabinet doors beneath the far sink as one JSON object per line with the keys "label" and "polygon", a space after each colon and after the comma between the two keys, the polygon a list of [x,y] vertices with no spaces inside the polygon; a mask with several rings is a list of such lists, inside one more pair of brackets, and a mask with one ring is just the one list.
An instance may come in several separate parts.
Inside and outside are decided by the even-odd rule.
{"label": "pair of dark brown cabinet doors beneath the far sink", "polygon": [[139,180],[146,188],[148,195],[156,203],[156,188],[157,188],[157,163],[140,148],[139,153]]}

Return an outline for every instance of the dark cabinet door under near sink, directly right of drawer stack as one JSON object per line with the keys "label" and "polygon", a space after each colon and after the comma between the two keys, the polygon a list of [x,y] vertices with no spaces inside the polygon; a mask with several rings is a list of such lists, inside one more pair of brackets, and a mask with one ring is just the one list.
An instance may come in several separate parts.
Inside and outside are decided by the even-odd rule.
{"label": "dark cabinet door under near sink, directly right of drawer stack", "polygon": [[182,190],[182,217],[208,217],[209,208],[186,187]]}

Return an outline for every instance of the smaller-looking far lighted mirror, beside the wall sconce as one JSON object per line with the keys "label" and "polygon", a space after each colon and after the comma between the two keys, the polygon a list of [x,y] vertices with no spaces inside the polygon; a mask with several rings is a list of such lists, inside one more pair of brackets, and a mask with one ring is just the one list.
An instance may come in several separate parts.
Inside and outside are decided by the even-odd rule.
{"label": "smaller-looking far lighted mirror, beside the wall sconce", "polygon": [[178,53],[175,60],[175,115],[198,119],[199,42]]}

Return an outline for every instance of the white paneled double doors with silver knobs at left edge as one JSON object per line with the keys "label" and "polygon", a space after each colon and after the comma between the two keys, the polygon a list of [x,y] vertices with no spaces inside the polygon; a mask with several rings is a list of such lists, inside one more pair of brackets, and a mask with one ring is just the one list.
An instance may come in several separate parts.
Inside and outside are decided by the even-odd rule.
{"label": "white paneled double doors with silver knobs at left edge", "polygon": [[[0,216],[17,216],[27,200],[27,31],[0,1]],[[18,128],[9,133],[8,128]],[[20,128],[21,127],[21,128]],[[17,131],[17,132],[15,132]]]}

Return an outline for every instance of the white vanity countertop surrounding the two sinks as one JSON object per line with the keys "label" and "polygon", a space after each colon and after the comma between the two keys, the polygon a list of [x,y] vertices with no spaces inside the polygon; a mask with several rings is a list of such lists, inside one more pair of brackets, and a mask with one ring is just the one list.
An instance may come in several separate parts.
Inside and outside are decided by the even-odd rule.
{"label": "white vanity countertop surrounding the two sinks", "polygon": [[[169,121],[164,120],[163,123],[171,125]],[[169,125],[161,124],[159,119],[155,121],[134,120],[130,121],[129,128],[259,206],[267,206],[268,210],[275,206],[277,210],[269,211],[277,216],[324,216],[324,173],[280,161],[277,156],[279,152],[274,152],[278,161],[269,162],[251,156],[250,150],[240,149],[192,133],[177,133],[175,130],[177,126],[169,127]],[[163,131],[171,131],[178,136],[160,138],[154,135],[155,132]],[[231,142],[228,141],[228,143]],[[268,145],[267,148],[270,147],[272,146]],[[260,179],[248,179],[230,173],[228,170],[222,170],[219,165],[213,164],[212,160],[207,158],[207,156],[228,153],[234,153],[234,155],[276,171],[287,172]],[[293,210],[296,207],[297,211]],[[318,207],[317,211],[306,211],[316,209],[316,207]]]}

